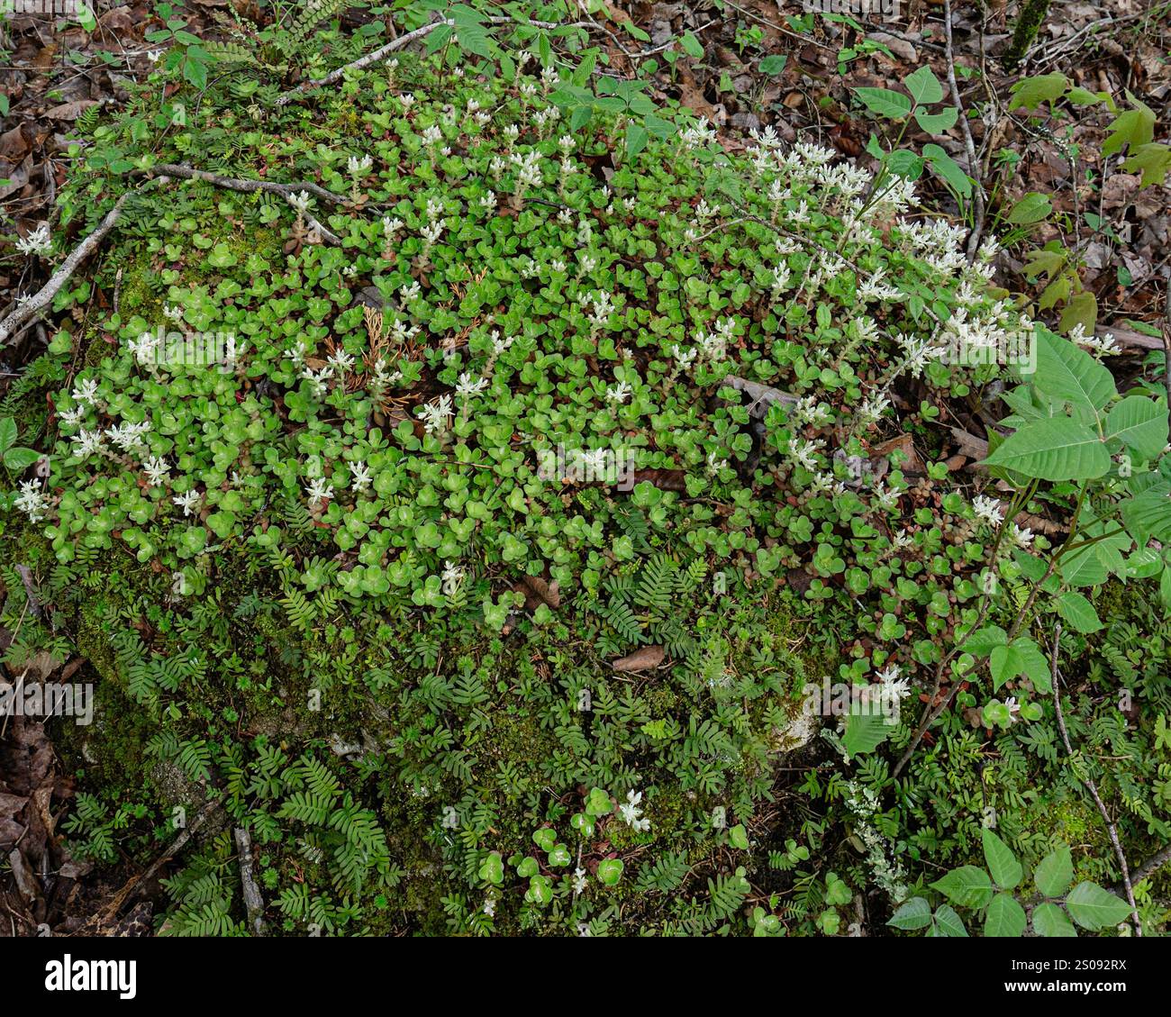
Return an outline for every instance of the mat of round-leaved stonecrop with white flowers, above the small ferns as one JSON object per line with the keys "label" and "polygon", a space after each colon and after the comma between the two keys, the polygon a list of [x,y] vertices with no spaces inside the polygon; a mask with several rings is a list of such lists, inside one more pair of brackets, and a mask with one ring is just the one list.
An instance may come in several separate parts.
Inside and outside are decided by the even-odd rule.
{"label": "mat of round-leaved stonecrop with white flowers, above the small ferns", "polygon": [[[605,537],[610,510],[582,491],[581,508],[567,512],[561,492],[540,480],[534,458],[512,436],[593,453],[616,448],[621,432],[641,467],[683,469],[687,493],[714,476],[717,490],[740,505],[731,530],[715,528],[710,510],[684,512],[674,492],[639,485],[636,500],[662,500],[655,528],[670,523],[690,553],[767,576],[800,561],[802,545],[813,542],[815,561],[824,562],[817,571],[837,574],[836,541],[815,539],[816,526],[828,535],[826,510],[844,505],[834,513],[842,521],[885,517],[898,507],[904,482],[893,471],[881,485],[847,489],[820,436],[844,425],[854,432],[848,451],[864,457],[865,436],[902,378],[965,390],[971,373],[940,362],[947,329],[959,320],[985,333],[1019,323],[1005,305],[979,295],[984,262],[961,268],[954,231],[909,220],[888,245],[882,231],[908,207],[910,191],[898,184],[864,200],[865,175],[833,165],[828,151],[782,152],[766,132],[747,157],[733,158],[689,128],[680,137],[690,156],[677,169],[657,158],[671,143],[651,137],[645,152],[628,151],[629,165],[607,186],[582,162],[604,148],[604,121],[570,146],[513,120],[552,114],[559,101],[573,105],[577,86],[559,84],[548,71],[540,80],[519,71],[513,81],[460,79],[456,103],[432,104],[425,98],[432,71],[412,73],[409,109],[362,110],[382,131],[368,153],[335,152],[320,165],[329,186],[344,189],[345,176],[369,182],[370,204],[389,206],[390,216],[369,223],[329,216],[345,250],[308,245],[271,260],[210,244],[214,287],[178,277],[166,287],[190,327],[246,337],[233,369],[172,378],[117,355],[80,377],[91,400],[61,395],[61,432],[71,445],[56,460],[54,484],[63,492],[49,535],[62,560],[78,541],[110,546],[115,532],[139,560],[160,558],[170,568],[215,541],[278,547],[279,526],[254,518],[283,500],[303,504],[349,557],[335,580],[349,598],[385,595],[389,583],[441,606],[443,562],[458,562],[473,539],[489,560],[548,569],[566,591],[593,589],[608,561],[624,557]],[[388,87],[369,77],[377,98]],[[409,173],[385,171],[400,151],[427,148],[425,134],[451,108],[473,104],[494,112],[486,122],[473,117],[466,146],[436,152]],[[494,191],[543,194],[552,204],[528,202],[505,216],[481,200]],[[761,200],[762,192],[773,197]],[[307,197],[293,203],[299,216]],[[682,244],[697,227],[704,239]],[[570,279],[561,266],[577,260],[573,248],[581,244],[584,257]],[[677,253],[652,258],[660,250]],[[719,259],[738,267],[719,277],[700,271]],[[939,273],[954,274],[956,288]],[[351,289],[365,279],[388,301],[392,336],[374,368]],[[845,354],[835,307],[849,308],[854,321]],[[950,307],[951,325],[940,328],[936,319]],[[107,327],[130,343],[152,325],[133,316]],[[453,333],[466,340],[451,349]],[[860,376],[855,368],[882,349],[890,369]],[[765,444],[775,451],[746,471],[748,417],[720,387],[734,374],[830,398],[792,423],[774,407]],[[420,388],[424,376],[430,381]],[[705,411],[697,393],[718,396],[718,408]],[[410,421],[363,426],[385,412],[391,394],[413,403],[422,432]],[[851,426],[858,396],[867,409]],[[282,414],[303,426],[287,435]],[[126,428],[133,443],[111,449]],[[357,484],[345,463],[362,464]],[[143,476],[162,483],[139,491]],[[761,484],[792,487],[808,504],[794,511],[749,497]],[[855,585],[869,583],[860,576]],[[488,603],[484,579],[470,574],[467,592],[471,602]]]}

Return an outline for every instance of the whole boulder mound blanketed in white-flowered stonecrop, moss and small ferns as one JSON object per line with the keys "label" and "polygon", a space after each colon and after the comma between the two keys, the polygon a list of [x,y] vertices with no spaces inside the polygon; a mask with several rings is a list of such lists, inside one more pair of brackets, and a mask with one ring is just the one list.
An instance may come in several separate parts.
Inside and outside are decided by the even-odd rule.
{"label": "whole boulder mound blanketed in white-flowered stonecrop, moss and small ferns", "polygon": [[[66,224],[100,214],[125,171],[194,152],[337,202],[172,182],[128,204],[144,292],[50,347],[54,362],[83,354],[75,375],[50,375],[52,473],[22,506],[44,517],[52,587],[91,581],[125,548],[155,583],[119,582],[89,623],[158,728],[151,764],[214,786],[282,859],[269,888],[289,931],[377,922],[404,874],[386,831],[413,824],[458,933],[602,934],[621,876],[623,895],[662,902],[658,930],[772,935],[785,919],[841,934],[847,880],[896,901],[913,882],[875,790],[892,784],[885,760],[867,755],[908,744],[910,724],[860,715],[829,732],[856,772],[822,786],[810,771],[804,790],[844,815],[864,861],[836,867],[844,879],[820,859],[806,873],[794,841],[800,897],[754,897],[746,922],[749,869],[772,854],[754,819],[810,677],[778,602],[817,615],[808,642],[842,682],[910,692],[954,664],[973,703],[1012,683],[1009,723],[1039,716],[1021,681],[1033,636],[1004,605],[1028,596],[1022,558],[1052,550],[1018,511],[1069,492],[1026,484],[1005,504],[957,483],[932,437],[945,400],[1004,375],[953,354],[1030,322],[988,288],[994,245],[968,265],[961,231],[920,218],[898,173],[875,182],[771,130],[727,152],[642,83],[559,70],[552,53],[457,74],[436,49],[347,74],[311,110],[241,70],[163,137],[139,127],[157,95],[95,129]],[[244,132],[217,120],[241,88],[265,114]],[[162,323],[234,335],[235,355],[144,362]],[[1103,423],[1130,398],[1094,409],[1108,456],[1149,437]],[[1093,426],[1067,403],[1038,409]],[[875,451],[900,434],[922,476]],[[569,462],[632,456],[634,489],[543,476],[559,446]],[[1095,489],[1082,511],[1119,497]],[[1131,558],[1149,568],[1148,552]],[[803,605],[776,591],[794,572]],[[526,610],[526,581],[560,593]],[[1034,603],[1050,609],[1048,591]],[[1005,622],[1002,643],[985,632]],[[994,657],[991,687],[959,653],[971,632]],[[656,647],[652,681],[605,663]],[[356,748],[334,737],[338,704]],[[296,722],[287,746],[240,736],[278,709]],[[824,823],[802,825],[809,851]],[[537,851],[506,866],[529,838]],[[735,869],[692,878],[696,856],[728,851]],[[231,858],[217,840],[173,882],[170,930],[238,928],[219,874]]]}

